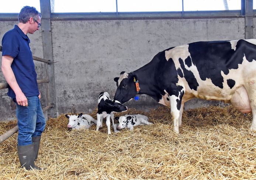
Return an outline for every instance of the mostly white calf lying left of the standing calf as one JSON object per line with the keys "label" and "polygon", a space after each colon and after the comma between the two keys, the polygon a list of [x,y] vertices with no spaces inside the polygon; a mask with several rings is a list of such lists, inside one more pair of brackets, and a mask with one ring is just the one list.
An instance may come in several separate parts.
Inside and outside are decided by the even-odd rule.
{"label": "mostly white calf lying left of the standing calf", "polygon": [[89,129],[91,127],[91,122],[93,122],[94,124],[97,124],[97,121],[94,120],[93,117],[91,117],[88,114],[83,115],[83,113],[80,113],[78,116],[66,114],[65,116],[69,119],[68,128]]}

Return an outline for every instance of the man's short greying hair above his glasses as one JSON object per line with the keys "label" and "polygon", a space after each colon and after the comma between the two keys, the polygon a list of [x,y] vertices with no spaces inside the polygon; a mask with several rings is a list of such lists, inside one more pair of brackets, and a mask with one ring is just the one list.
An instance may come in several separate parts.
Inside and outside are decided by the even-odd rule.
{"label": "man's short greying hair above his glasses", "polygon": [[35,7],[24,6],[18,15],[18,20],[20,23],[27,23],[32,17],[35,20],[38,20],[38,15],[41,18],[41,13]]}

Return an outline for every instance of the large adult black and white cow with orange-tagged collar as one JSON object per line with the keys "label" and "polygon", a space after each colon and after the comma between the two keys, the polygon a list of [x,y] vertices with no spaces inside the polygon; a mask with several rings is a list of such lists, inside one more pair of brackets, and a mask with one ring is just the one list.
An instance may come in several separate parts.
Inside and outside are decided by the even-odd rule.
{"label": "large adult black and white cow with orange-tagged collar", "polygon": [[114,100],[125,103],[148,94],[170,107],[179,133],[184,103],[192,98],[229,102],[242,113],[252,112],[256,130],[256,39],[194,42],[159,52],[145,66],[115,77]]}

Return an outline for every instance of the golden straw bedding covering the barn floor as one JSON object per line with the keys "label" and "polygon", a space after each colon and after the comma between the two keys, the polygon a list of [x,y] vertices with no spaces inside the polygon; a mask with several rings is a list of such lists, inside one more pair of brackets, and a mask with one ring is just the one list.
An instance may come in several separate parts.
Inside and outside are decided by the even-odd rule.
{"label": "golden straw bedding covering the barn floor", "polygon": [[[65,115],[49,119],[35,162],[43,171],[20,169],[16,133],[0,145],[0,179],[256,179],[251,114],[231,106],[188,110],[177,135],[167,107],[125,113],[147,115],[153,125],[107,135],[104,122],[96,132],[96,125],[69,130]],[[16,124],[1,122],[0,134]]]}

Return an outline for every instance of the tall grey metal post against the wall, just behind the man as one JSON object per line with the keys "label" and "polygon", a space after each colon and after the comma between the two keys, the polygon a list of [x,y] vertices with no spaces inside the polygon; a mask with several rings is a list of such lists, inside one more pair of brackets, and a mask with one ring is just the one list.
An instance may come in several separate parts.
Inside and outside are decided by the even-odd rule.
{"label": "tall grey metal post against the wall, just behind the man", "polygon": [[47,104],[52,103],[53,107],[47,113],[48,117],[56,118],[56,97],[55,97],[55,81],[54,81],[54,64],[52,55],[52,32],[51,32],[51,7],[50,0],[40,0],[40,8],[42,14],[42,41],[44,59],[49,59],[51,64],[45,65],[46,79],[50,82],[47,84]]}

